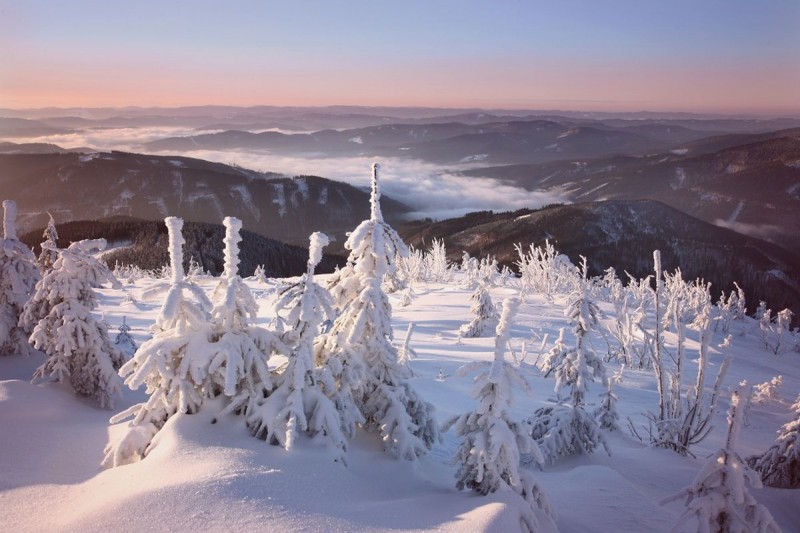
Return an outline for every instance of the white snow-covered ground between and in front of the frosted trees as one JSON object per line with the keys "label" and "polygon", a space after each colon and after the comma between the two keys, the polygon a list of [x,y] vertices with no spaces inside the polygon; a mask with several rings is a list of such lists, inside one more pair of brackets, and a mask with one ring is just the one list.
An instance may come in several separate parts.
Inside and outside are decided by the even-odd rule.
{"label": "white snow-covered ground between and in front of the frosted trees", "polygon": [[[459,326],[469,319],[472,294],[460,288],[459,281],[457,277],[450,283],[415,286],[411,304],[397,305],[392,318],[399,337],[409,322],[416,324],[412,347],[417,356],[411,363],[416,377],[411,381],[436,406],[440,422],[475,407],[471,379],[455,376],[455,370],[465,363],[491,361],[494,353],[494,337],[458,338]],[[158,282],[142,279],[122,289],[99,289],[97,316],[104,317],[111,332],[125,316],[141,344],[150,336],[147,330],[161,302],[137,298],[130,305],[126,296],[138,296]],[[210,292],[218,280],[200,277],[198,283]],[[275,291],[264,290],[263,283],[252,279],[247,283],[260,304],[258,323],[266,326],[273,318]],[[491,292],[496,301],[517,294],[510,287]],[[544,335],[555,339],[558,329],[566,326],[565,297],[557,295],[548,302],[543,296],[527,296],[510,328],[514,353],[521,352],[523,341],[536,347],[529,348],[529,359],[520,366],[532,394],[515,395],[517,418],[530,416],[554,396],[554,380],[544,378],[532,365],[539,346],[532,339]],[[399,303],[394,296],[390,300]],[[610,320],[613,307],[605,303],[600,307],[606,315],[603,320]],[[750,319],[735,322],[733,333],[730,348],[711,350],[713,369],[724,355],[732,356],[733,363],[714,429],[693,449],[697,458],[651,448],[621,429],[606,433],[610,457],[605,453],[571,457],[534,472],[558,514],[560,531],[670,531],[684,507],[681,502],[662,506],[659,501],[690,484],[706,458],[724,445],[730,390],[742,379],[760,383],[776,375],[783,376],[784,397],[793,398],[800,390],[797,353],[768,355],[760,348],[757,324]],[[696,349],[694,341],[690,349]],[[718,333],[711,345],[722,341]],[[605,353],[600,337],[589,342],[598,353]],[[460,439],[452,430],[413,463],[393,459],[376,435],[360,431],[349,444],[348,466],[343,466],[308,440],[300,440],[292,451],[257,440],[235,415],[212,424],[218,411],[212,401],[196,415],[170,418],[141,462],[103,470],[100,462],[109,435],[124,431],[124,425],[110,427],[108,419],[115,412],[98,409],[65,386],[32,385],[30,377],[43,359],[38,353],[0,358],[3,531],[520,530],[516,494],[500,490],[482,497],[454,488],[456,466],[450,461]],[[619,365],[608,363],[609,375],[618,371]],[[591,384],[590,402],[598,401],[601,389],[602,385]],[[625,369],[614,391],[621,425],[627,417],[641,425],[643,413],[657,406],[650,371]],[[122,411],[145,398],[143,390],[126,390],[117,408]],[[740,455],[760,453],[773,442],[775,432],[791,417],[789,403],[777,400],[752,406],[737,447]],[[751,493],[784,531],[797,531],[800,491],[764,488]]]}

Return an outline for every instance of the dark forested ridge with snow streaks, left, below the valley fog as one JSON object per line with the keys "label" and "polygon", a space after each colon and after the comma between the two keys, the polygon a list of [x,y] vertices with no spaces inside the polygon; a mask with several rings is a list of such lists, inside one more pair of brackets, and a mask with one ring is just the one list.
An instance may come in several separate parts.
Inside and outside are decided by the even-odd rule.
{"label": "dark forested ridge with snow streaks, left, below the valley fog", "polygon": [[[298,246],[324,231],[331,250],[369,217],[368,193],[345,183],[122,152],[0,155],[0,197],[17,201],[21,228],[43,225],[46,211],[57,222],[171,215],[219,224],[236,216],[247,230]],[[384,196],[388,220],[408,210]]]}

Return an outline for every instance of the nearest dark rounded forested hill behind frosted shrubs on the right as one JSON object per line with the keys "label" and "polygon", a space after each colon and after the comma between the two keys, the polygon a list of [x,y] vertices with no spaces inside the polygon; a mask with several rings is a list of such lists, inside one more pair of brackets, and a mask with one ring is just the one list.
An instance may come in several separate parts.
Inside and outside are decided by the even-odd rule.
{"label": "nearest dark rounded forested hill behind frosted shrubs on the right", "polygon": [[495,256],[505,264],[518,259],[514,245],[543,245],[549,239],[577,264],[585,256],[593,275],[613,267],[643,278],[652,273],[653,250],[663,268],[680,267],[685,279],[702,278],[712,290],[729,292],[738,282],[751,306],[766,300],[773,309],[800,314],[800,255],[691,217],[652,200],[609,200],[553,205],[533,211],[477,212],[441,222],[420,221],[399,228],[417,248],[442,239],[448,256],[460,261]]}

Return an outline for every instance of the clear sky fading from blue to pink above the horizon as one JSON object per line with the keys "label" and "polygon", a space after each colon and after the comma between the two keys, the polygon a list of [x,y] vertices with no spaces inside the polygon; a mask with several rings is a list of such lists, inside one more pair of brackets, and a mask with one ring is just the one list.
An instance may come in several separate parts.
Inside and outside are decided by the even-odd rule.
{"label": "clear sky fading from blue to pink above the horizon", "polygon": [[800,114],[797,0],[0,0],[0,107]]}

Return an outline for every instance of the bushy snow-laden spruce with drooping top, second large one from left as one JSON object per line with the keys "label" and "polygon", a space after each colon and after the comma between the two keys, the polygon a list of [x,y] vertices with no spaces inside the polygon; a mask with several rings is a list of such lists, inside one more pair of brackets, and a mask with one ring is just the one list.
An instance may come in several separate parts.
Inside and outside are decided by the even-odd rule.
{"label": "bushy snow-laden spruce with drooping top, second large one from left", "polygon": [[121,287],[91,255],[105,247],[105,240],[99,239],[72,243],[59,251],[53,269],[36,284],[20,323],[31,328],[31,344],[47,354],[34,379],[69,382],[78,394],[110,409],[122,389],[117,370],[125,355],[108,338],[105,324],[92,316],[97,308],[92,287],[102,282]]}

